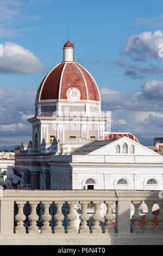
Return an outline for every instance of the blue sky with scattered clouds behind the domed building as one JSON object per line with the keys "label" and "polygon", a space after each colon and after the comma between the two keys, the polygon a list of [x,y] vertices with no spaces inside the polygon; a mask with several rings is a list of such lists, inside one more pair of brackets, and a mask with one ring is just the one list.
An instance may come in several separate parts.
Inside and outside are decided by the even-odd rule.
{"label": "blue sky with scattered clouds behind the domed building", "polygon": [[67,39],[111,111],[111,131],[153,145],[163,136],[162,10],[162,0],[0,0],[0,147],[32,139],[36,90]]}

